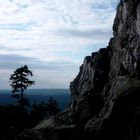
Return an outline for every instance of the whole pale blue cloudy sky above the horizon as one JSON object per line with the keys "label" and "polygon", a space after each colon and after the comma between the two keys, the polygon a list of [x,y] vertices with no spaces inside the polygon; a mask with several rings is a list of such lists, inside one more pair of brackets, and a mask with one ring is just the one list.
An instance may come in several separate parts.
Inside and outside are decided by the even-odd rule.
{"label": "whole pale blue cloudy sky above the horizon", "polygon": [[32,88],[69,88],[86,55],[108,45],[118,0],[0,0],[0,89],[28,65]]}

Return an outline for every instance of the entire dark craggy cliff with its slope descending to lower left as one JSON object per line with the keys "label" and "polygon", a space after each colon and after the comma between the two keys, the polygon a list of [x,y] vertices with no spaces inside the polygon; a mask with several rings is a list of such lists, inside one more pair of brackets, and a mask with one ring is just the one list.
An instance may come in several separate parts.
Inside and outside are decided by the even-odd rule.
{"label": "entire dark craggy cliff with its slope descending to lower left", "polygon": [[121,0],[113,35],[106,48],[84,59],[70,84],[71,107],[20,139],[140,139],[139,0]]}

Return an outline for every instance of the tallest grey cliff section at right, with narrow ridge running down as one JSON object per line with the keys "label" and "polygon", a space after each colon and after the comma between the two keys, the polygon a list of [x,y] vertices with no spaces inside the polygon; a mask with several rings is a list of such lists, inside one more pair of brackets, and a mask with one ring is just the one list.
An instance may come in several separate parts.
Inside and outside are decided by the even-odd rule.
{"label": "tallest grey cliff section at right, with narrow ridge running down", "polygon": [[[124,99],[127,99],[127,96],[132,94],[132,97],[136,96],[140,100],[139,96],[136,95],[137,92],[140,92],[140,32],[137,29],[140,26],[140,21],[137,18],[140,15],[139,10],[139,2],[133,0],[121,1],[117,8],[113,26],[114,38],[111,39],[107,47],[110,49],[112,56],[109,80],[102,90],[103,98],[106,100],[98,114],[99,117],[93,116],[87,122],[85,128],[89,131],[102,129],[104,120],[110,119],[110,115],[115,110],[114,104],[116,105],[119,102],[120,96],[126,96]],[[129,103],[133,106],[135,102],[130,100]],[[123,102],[121,105],[123,107]]]}

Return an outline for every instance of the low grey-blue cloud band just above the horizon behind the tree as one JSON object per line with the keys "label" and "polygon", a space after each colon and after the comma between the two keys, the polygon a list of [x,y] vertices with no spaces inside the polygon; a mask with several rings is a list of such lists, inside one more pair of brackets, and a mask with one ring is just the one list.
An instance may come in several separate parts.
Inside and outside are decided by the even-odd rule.
{"label": "low grey-blue cloud band just above the horizon behind the tree", "polygon": [[[1,88],[9,86],[9,77],[14,70],[24,64],[28,64],[29,69],[34,73],[33,80],[36,81],[36,88],[65,87],[69,85],[71,78],[74,77],[71,71],[76,71],[77,65],[72,61],[42,62],[34,58],[27,58],[20,55],[0,55],[0,77]],[[61,79],[61,80],[60,80]],[[64,83],[65,81],[65,83]]]}

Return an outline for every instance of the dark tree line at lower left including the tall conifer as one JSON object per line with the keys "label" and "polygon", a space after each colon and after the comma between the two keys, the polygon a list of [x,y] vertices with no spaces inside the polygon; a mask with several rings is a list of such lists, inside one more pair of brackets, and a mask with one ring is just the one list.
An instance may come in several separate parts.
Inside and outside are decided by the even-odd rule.
{"label": "dark tree line at lower left including the tall conifer", "polygon": [[17,68],[9,78],[12,97],[17,99],[17,104],[0,105],[1,140],[14,140],[24,129],[32,128],[43,118],[60,112],[57,101],[52,97],[46,102],[30,104],[25,91],[35,84],[31,80],[32,76],[33,72],[24,65]]}

